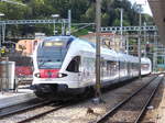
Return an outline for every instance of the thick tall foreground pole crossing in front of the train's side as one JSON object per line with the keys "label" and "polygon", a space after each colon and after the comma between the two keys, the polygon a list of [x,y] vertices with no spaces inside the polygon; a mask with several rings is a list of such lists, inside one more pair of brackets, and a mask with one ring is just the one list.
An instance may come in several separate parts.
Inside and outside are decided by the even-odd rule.
{"label": "thick tall foreground pole crossing in front of the train's side", "polygon": [[96,98],[101,100],[100,81],[100,26],[101,26],[101,0],[96,3]]}

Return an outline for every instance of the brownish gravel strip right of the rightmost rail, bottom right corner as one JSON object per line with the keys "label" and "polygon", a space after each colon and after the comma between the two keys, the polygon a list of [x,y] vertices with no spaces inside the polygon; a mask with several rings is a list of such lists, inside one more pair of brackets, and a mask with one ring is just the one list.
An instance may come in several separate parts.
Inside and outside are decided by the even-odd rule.
{"label": "brownish gravel strip right of the rightmost rail, bottom right corner", "polygon": [[160,85],[142,123],[165,123],[165,80]]}

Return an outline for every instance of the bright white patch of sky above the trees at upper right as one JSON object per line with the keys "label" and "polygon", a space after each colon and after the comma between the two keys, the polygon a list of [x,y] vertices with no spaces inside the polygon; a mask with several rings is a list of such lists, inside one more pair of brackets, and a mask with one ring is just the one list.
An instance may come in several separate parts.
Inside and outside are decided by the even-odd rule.
{"label": "bright white patch of sky above the trees at upper right", "polygon": [[143,5],[144,13],[148,13],[150,15],[152,15],[150,5],[148,5],[148,3],[147,3],[147,0],[129,0],[129,1],[131,1],[132,3],[134,3],[134,2],[142,2],[142,3],[145,3],[145,4]]}

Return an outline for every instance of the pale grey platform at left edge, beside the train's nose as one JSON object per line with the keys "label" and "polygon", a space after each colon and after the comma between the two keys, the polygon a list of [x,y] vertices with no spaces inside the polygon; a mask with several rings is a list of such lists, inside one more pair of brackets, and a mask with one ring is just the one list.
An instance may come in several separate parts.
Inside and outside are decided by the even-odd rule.
{"label": "pale grey platform at left edge, beside the train's nose", "polygon": [[0,109],[25,102],[34,98],[36,97],[30,89],[18,89],[18,91],[1,91]]}

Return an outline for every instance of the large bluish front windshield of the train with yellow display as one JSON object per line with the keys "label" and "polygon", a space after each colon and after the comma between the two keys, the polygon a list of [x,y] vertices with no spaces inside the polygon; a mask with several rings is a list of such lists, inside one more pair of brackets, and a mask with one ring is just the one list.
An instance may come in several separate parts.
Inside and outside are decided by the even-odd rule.
{"label": "large bluish front windshield of the train with yellow display", "polygon": [[37,48],[37,65],[40,69],[61,68],[66,56],[66,42],[44,42]]}

